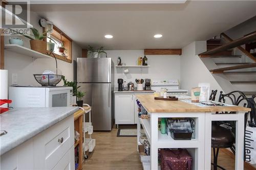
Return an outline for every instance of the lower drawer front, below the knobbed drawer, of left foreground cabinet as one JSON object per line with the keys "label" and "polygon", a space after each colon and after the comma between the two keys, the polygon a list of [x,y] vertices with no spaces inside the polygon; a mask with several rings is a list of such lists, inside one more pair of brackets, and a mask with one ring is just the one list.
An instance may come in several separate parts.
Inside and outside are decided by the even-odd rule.
{"label": "lower drawer front, below the knobbed drawer, of left foreground cabinet", "polygon": [[75,168],[74,165],[74,148],[72,147],[61,159],[60,161],[54,166],[53,170],[71,170]]}

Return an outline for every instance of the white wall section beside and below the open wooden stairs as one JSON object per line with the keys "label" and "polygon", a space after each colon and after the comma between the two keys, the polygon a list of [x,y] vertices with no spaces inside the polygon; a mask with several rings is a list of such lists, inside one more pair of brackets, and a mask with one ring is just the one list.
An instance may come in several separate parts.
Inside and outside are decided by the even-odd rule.
{"label": "white wall section beside and below the open wooden stairs", "polygon": [[221,91],[222,88],[212,77],[210,71],[206,68],[202,60],[198,57],[199,48],[204,45],[198,45],[196,41],[188,44],[182,48],[182,55],[180,60],[180,83],[182,89],[187,89],[189,94],[191,93],[191,88],[197,87],[198,83],[210,83],[210,89]]}

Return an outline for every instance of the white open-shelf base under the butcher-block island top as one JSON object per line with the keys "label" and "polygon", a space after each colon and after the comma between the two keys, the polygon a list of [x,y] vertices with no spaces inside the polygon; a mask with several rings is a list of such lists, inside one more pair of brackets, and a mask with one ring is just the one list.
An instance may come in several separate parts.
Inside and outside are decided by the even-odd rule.
{"label": "white open-shelf base under the butcher-block island top", "polygon": [[[138,140],[138,152],[140,156],[140,160],[142,163],[142,167],[145,170],[149,169],[160,169],[160,166],[157,165],[158,155],[156,150],[158,149],[187,149],[189,154],[193,157],[193,169],[202,168],[202,164],[200,164],[200,160],[203,160],[202,151],[204,150],[204,131],[200,130],[204,126],[204,115],[201,113],[193,113],[193,115],[188,113],[183,113],[183,115],[179,113],[148,113],[151,118],[142,119],[138,118],[137,124],[137,140]],[[168,136],[167,134],[162,134],[160,130],[158,130],[158,118],[160,117],[179,117],[179,118],[193,118],[195,120],[195,137],[191,140],[175,140],[172,136]],[[140,143],[140,127],[143,127],[144,133],[147,136],[148,141],[151,144],[151,154],[150,156],[141,155],[141,151],[139,148],[142,143]],[[147,158],[145,158],[147,157]],[[143,158],[143,159],[142,159]],[[148,161],[149,160],[149,161]],[[153,162],[151,162],[153,161]],[[152,168],[151,168],[152,166]]]}

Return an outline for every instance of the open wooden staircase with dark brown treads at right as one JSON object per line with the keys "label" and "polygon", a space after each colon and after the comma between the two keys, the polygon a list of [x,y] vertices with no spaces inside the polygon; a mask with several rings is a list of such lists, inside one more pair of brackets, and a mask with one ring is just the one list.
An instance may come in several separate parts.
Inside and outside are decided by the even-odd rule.
{"label": "open wooden staircase with dark brown treads at right", "polygon": [[[253,76],[256,75],[256,69],[253,69],[256,68],[256,54],[250,54],[242,46],[240,46],[245,43],[256,42],[256,32],[245,35],[237,40],[232,40],[224,33],[222,33],[220,37],[221,38],[207,40],[207,51],[199,54],[201,58],[212,58],[212,60],[216,60],[218,58],[218,61],[214,62],[217,68],[210,69],[209,71],[212,74],[223,74],[226,76],[243,75],[243,78],[248,75],[246,80],[227,80],[231,85],[252,86],[255,84],[256,87],[256,76]],[[234,55],[234,48],[238,48],[243,56],[250,58],[249,62],[241,61],[241,59],[244,59],[242,58],[242,55]],[[231,76],[231,78],[234,77],[236,76]],[[244,89],[245,90],[243,91],[246,93],[246,95],[256,94],[256,88],[255,91],[246,91],[246,88]]]}

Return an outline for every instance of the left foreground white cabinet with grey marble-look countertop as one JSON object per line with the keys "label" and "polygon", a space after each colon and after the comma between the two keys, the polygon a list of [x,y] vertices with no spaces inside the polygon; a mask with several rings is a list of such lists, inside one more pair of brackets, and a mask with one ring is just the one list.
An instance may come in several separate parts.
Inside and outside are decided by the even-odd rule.
{"label": "left foreground white cabinet with grey marble-look countertop", "polygon": [[0,115],[1,169],[74,168],[78,107],[15,108]]}

